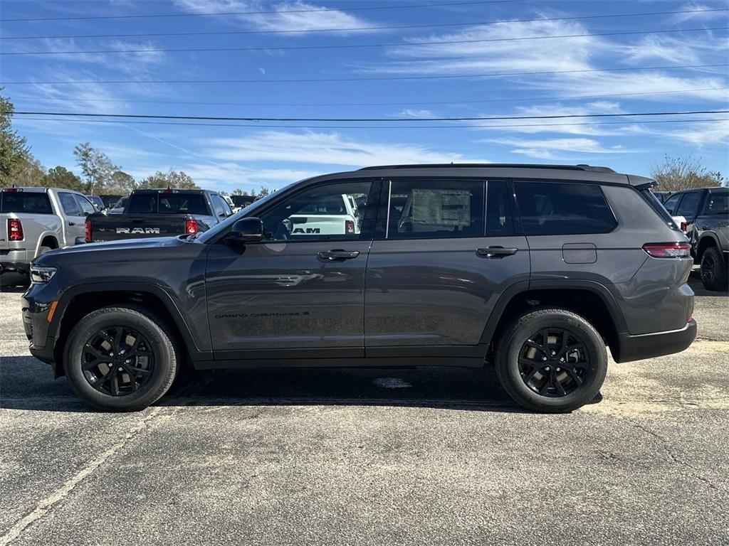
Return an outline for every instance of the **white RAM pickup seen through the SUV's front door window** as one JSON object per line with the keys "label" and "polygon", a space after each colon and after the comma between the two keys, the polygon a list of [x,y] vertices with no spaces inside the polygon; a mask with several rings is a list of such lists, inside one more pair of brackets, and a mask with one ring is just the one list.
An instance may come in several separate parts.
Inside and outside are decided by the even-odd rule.
{"label": "white RAM pickup seen through the SUV's front door window", "polygon": [[319,200],[289,216],[284,224],[292,239],[305,235],[358,234],[364,210],[359,205],[366,197],[359,194],[341,194],[332,196],[331,199]]}

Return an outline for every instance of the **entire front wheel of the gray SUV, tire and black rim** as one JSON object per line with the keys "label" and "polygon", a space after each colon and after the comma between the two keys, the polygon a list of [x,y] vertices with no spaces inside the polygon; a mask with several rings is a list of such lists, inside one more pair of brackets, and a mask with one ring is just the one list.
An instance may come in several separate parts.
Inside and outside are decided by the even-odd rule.
{"label": "entire front wheel of the gray SUV, tire and black rim", "polygon": [[63,369],[74,392],[94,408],[139,411],[175,379],[179,350],[173,340],[165,323],[144,309],[104,307],[71,331]]}

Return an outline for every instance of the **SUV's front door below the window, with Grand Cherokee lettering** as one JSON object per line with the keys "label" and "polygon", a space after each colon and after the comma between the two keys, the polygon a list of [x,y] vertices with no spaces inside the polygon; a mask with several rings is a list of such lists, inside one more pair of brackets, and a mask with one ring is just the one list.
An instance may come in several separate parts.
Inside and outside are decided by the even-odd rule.
{"label": "SUV's front door below the window, with Grand Cherokee lettering", "polygon": [[[244,349],[357,349],[362,356],[364,269],[370,241],[225,244],[208,254],[206,289],[216,357]],[[353,258],[319,253],[344,250]],[[227,352],[227,354],[226,354]]]}

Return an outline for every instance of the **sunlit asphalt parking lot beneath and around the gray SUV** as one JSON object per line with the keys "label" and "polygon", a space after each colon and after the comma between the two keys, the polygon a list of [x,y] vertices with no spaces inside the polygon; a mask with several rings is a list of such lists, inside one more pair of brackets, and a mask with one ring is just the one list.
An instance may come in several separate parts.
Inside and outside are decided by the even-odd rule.
{"label": "sunlit asphalt parking lot beneath and around the gray SUV", "polygon": [[521,411],[491,370],[190,373],[99,414],[0,293],[0,546],[725,545],[729,297],[601,399]]}

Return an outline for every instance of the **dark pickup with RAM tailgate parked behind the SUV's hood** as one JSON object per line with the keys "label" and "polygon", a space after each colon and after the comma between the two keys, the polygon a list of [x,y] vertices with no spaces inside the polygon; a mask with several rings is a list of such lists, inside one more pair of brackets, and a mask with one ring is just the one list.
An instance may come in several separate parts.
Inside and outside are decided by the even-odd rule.
{"label": "dark pickup with RAM tailgate parked behind the SUV's hood", "polygon": [[86,242],[168,237],[205,232],[233,214],[219,194],[205,189],[137,189],[121,214],[86,218]]}

